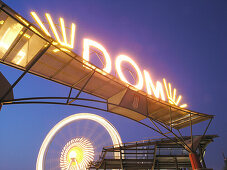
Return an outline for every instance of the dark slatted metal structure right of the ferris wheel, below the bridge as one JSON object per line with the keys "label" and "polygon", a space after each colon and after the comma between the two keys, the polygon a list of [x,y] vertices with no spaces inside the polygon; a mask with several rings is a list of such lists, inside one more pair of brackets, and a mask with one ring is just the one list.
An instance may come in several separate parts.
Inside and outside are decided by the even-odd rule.
{"label": "dark slatted metal structure right of the ferris wheel, below the bridge", "polygon": [[[199,136],[194,136],[195,138]],[[203,159],[207,145],[213,142],[216,135],[206,135],[200,141],[198,155],[206,168]],[[184,140],[190,136],[183,137]],[[118,158],[112,153],[120,153]],[[91,169],[191,169],[188,151],[169,139],[150,139],[124,143],[121,147],[104,147],[100,160]]]}

